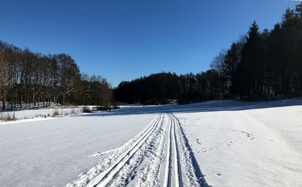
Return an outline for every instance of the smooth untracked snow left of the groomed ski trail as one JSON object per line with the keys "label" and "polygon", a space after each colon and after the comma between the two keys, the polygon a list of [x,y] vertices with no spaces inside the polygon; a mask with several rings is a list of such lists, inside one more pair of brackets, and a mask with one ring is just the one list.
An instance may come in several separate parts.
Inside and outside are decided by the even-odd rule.
{"label": "smooth untracked snow left of the groomed ski trail", "polygon": [[153,117],[87,114],[0,125],[0,186],[64,186],[97,163],[89,155],[119,148]]}

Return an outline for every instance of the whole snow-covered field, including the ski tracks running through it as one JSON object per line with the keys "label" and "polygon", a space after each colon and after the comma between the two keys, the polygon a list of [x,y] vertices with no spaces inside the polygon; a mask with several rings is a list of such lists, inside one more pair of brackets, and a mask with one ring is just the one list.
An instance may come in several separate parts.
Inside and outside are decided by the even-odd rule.
{"label": "whole snow-covered field, including the ski tracks running through it", "polygon": [[0,142],[0,186],[302,186],[302,99],[0,122]]}

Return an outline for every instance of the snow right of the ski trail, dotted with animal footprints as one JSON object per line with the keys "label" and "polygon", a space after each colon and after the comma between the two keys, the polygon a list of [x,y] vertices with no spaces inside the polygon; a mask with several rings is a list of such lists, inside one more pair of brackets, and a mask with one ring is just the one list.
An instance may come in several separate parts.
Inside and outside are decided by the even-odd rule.
{"label": "snow right of the ski trail, dotted with animal footprints", "polygon": [[301,99],[215,101],[195,104],[194,108],[200,111],[175,115],[181,120],[209,185],[302,184],[297,177],[302,176]]}

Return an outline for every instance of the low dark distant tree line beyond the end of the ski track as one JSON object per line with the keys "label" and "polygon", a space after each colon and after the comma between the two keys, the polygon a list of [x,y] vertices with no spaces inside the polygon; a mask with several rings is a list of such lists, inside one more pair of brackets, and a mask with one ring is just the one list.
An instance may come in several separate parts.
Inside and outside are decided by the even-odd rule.
{"label": "low dark distant tree line beyond the end of the ski track", "polygon": [[122,81],[114,89],[117,101],[141,104],[165,104],[177,100],[179,104],[190,101],[215,100],[220,96],[219,74],[207,70],[197,74],[154,73],[132,81]]}

